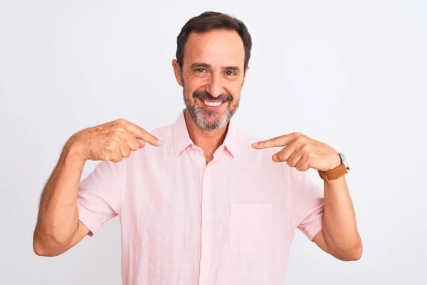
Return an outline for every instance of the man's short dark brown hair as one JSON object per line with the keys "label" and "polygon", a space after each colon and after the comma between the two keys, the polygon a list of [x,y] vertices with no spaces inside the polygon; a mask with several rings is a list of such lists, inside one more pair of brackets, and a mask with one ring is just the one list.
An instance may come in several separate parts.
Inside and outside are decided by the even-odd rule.
{"label": "man's short dark brown hair", "polygon": [[191,31],[203,33],[204,31],[213,29],[234,30],[239,34],[239,36],[241,36],[243,46],[245,48],[244,71],[246,71],[249,58],[251,58],[251,34],[249,34],[248,28],[246,28],[246,25],[243,24],[242,21],[228,14],[218,12],[204,12],[199,16],[189,19],[189,21],[187,21],[181,28],[181,32],[176,38],[176,61],[178,62],[179,67],[182,68],[182,65],[184,64],[184,46]]}

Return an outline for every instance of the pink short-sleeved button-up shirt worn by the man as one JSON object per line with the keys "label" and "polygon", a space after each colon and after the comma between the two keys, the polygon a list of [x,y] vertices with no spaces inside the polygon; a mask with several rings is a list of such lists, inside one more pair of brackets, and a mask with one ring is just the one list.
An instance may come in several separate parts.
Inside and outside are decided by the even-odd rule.
{"label": "pink short-sleeved button-up shirt worn by the man", "polygon": [[282,284],[295,229],[310,240],[322,229],[320,187],[233,122],[208,165],[183,112],[152,134],[161,147],[100,162],[78,192],[90,236],[120,218],[122,283]]}

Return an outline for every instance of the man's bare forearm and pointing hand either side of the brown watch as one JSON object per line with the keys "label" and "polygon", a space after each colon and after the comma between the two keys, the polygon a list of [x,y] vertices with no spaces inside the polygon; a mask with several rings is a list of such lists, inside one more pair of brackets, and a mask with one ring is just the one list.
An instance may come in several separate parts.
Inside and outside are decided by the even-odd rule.
{"label": "man's bare forearm and pointing hand either side of the brown watch", "polygon": [[[300,133],[282,135],[253,144],[255,149],[284,146],[275,153],[275,162],[287,162],[290,167],[305,172],[312,168],[327,172],[342,164],[337,151],[329,145]],[[318,247],[343,261],[362,257],[362,240],[357,230],[354,207],[344,176],[324,182],[325,209],[322,230],[312,239]]]}

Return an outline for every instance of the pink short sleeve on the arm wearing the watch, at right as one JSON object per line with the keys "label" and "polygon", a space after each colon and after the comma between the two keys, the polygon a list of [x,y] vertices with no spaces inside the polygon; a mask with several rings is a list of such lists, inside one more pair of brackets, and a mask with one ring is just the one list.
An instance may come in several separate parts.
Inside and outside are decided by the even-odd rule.
{"label": "pink short sleeve on the arm wearing the watch, at right", "polygon": [[325,209],[323,190],[306,172],[290,168],[290,196],[294,226],[312,240],[322,229]]}

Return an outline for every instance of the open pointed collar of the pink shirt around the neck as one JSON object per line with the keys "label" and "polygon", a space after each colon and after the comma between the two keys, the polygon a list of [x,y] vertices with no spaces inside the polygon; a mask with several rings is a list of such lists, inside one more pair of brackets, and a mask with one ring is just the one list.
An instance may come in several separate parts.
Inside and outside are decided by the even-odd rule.
{"label": "open pointed collar of the pink shirt around the neck", "polygon": [[[179,116],[172,127],[176,156],[178,156],[183,150],[185,150],[186,147],[189,147],[189,145],[194,145],[194,142],[191,140],[189,131],[186,127],[184,111],[185,109],[181,110],[181,113],[179,113]],[[230,120],[230,123],[228,123],[228,130],[226,138],[223,142],[223,146],[226,147],[228,152],[230,152],[233,157],[236,157],[237,129],[233,124],[233,120]]]}

